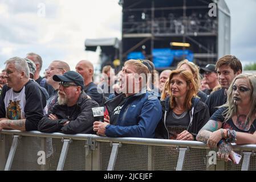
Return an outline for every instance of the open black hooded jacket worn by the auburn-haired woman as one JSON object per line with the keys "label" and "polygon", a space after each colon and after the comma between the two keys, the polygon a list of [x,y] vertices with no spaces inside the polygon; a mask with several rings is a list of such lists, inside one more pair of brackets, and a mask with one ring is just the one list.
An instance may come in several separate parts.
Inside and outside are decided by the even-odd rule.
{"label": "open black hooded jacket worn by the auburn-haired woman", "polygon": [[[166,100],[161,101],[162,105],[162,119],[159,122],[159,125],[156,128],[156,138],[169,139],[169,133],[165,125],[166,116],[170,111],[170,98],[167,97]],[[196,136],[198,131],[205,125],[209,120],[209,111],[208,107],[204,102],[200,101],[198,97],[192,98],[192,109],[189,111],[190,114],[190,123],[188,126],[188,132]]]}

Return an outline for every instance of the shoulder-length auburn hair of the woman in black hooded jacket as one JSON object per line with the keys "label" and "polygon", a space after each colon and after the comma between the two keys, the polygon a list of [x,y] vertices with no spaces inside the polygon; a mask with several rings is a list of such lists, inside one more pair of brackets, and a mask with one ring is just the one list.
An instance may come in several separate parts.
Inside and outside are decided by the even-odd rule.
{"label": "shoulder-length auburn hair of the woman in black hooded jacket", "polygon": [[[176,69],[172,72],[170,72],[169,80],[166,82],[166,87],[169,89],[170,88],[170,81],[172,80],[172,77],[174,75],[179,75],[182,79],[186,81],[187,85],[187,93],[186,93],[186,98],[185,98],[185,103],[184,107],[189,110],[192,107],[192,98],[196,97],[197,95],[197,84],[194,81],[194,77],[191,72],[186,71],[184,69]],[[191,86],[191,88],[190,88]],[[173,109],[177,104],[175,101],[175,98],[172,96],[172,93],[170,93],[170,108]]]}

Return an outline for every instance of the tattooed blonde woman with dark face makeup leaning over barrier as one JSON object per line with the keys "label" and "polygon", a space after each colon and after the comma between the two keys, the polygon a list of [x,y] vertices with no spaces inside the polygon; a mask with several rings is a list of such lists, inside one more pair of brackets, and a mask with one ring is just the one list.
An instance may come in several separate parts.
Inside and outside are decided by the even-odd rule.
{"label": "tattooed blonde woman with dark face makeup leaning over barrier", "polygon": [[218,147],[218,158],[234,160],[230,143],[256,143],[256,76],[241,74],[227,90],[227,102],[221,106],[197,135],[211,148]]}

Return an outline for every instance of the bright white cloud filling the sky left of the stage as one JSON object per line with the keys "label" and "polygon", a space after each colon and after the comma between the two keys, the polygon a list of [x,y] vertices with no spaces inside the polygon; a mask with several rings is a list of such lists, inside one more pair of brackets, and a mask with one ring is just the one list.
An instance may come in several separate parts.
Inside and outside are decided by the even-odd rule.
{"label": "bright white cloud filling the sky left of the stage", "polygon": [[[81,59],[92,59],[95,63],[97,54],[84,51],[84,41],[120,38],[121,7],[117,2],[24,0],[17,3],[3,0],[0,4],[0,60],[36,52],[43,57],[43,68],[52,60],[65,60],[72,69]],[[44,17],[38,16],[39,3],[45,5]],[[11,44],[12,49],[3,48],[6,43]]]}

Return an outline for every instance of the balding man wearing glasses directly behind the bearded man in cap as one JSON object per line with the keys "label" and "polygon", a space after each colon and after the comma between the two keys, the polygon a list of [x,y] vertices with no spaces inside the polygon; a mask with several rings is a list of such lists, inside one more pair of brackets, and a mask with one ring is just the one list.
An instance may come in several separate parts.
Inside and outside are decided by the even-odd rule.
{"label": "balding man wearing glasses directly behind the bearded man in cap", "polygon": [[56,82],[52,79],[54,75],[63,75],[64,73],[70,71],[70,66],[64,61],[52,61],[49,67],[45,70],[46,74],[46,82],[54,88],[54,92],[51,94],[50,98],[47,100],[47,108],[48,111],[52,109],[52,107],[58,101],[58,90],[59,90],[59,82]]}

